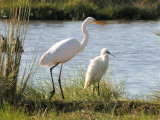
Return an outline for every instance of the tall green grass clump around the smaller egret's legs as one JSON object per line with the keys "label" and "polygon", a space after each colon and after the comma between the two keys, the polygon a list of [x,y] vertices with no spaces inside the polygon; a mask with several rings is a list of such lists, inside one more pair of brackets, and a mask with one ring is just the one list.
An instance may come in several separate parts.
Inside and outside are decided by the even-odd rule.
{"label": "tall green grass clump around the smaller egret's legs", "polygon": [[84,101],[113,101],[124,98],[125,89],[124,81],[114,80],[114,75],[109,73],[100,81],[100,96],[98,96],[97,84],[95,85],[95,95],[93,96],[93,86],[84,89],[85,72],[83,69],[78,69],[75,77],[64,88],[64,93],[68,100],[84,100]]}

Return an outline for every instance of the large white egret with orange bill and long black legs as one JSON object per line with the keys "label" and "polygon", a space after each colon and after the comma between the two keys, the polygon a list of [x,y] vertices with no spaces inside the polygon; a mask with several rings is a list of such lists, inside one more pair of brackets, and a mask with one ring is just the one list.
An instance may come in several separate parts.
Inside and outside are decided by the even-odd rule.
{"label": "large white egret with orange bill and long black legs", "polygon": [[81,29],[82,29],[82,33],[84,34],[84,39],[82,41],[78,41],[73,38],[62,40],[54,44],[53,46],[51,46],[51,48],[41,57],[40,65],[50,67],[50,74],[51,74],[52,85],[53,85],[53,91],[50,92],[51,94],[49,98],[50,100],[52,99],[55,93],[52,69],[55,68],[58,64],[61,64],[58,82],[59,82],[62,98],[64,99],[64,95],[63,95],[63,91],[61,87],[62,65],[63,63],[72,59],[74,56],[76,56],[78,53],[80,53],[85,48],[88,42],[88,38],[89,38],[89,34],[86,30],[86,27],[89,24],[95,24],[95,23],[100,24],[100,25],[105,25],[99,21],[96,21],[92,17],[88,17],[84,20],[82,24]]}

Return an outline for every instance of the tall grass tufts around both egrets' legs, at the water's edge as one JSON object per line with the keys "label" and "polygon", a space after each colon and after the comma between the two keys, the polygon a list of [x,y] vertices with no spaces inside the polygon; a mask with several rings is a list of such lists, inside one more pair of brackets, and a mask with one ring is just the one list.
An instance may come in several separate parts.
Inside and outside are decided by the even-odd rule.
{"label": "tall grass tufts around both egrets' legs, at the water's edge", "polygon": [[[74,73],[73,77],[62,78],[62,89],[65,96],[65,101],[105,101],[111,102],[114,100],[125,99],[126,91],[123,78],[116,81],[114,74],[108,73],[100,81],[100,96],[97,93],[97,86],[95,86],[95,95],[93,96],[92,86],[84,89],[85,72],[83,69],[78,68],[78,71]],[[47,88],[47,89],[46,89]],[[30,84],[26,89],[28,97],[35,97],[38,99],[48,99],[49,91],[51,90],[51,84],[44,81],[37,87]],[[53,96],[54,101],[62,100],[59,85],[56,84],[56,93]],[[37,90],[37,91],[36,91]],[[29,93],[29,94],[28,94]]]}

